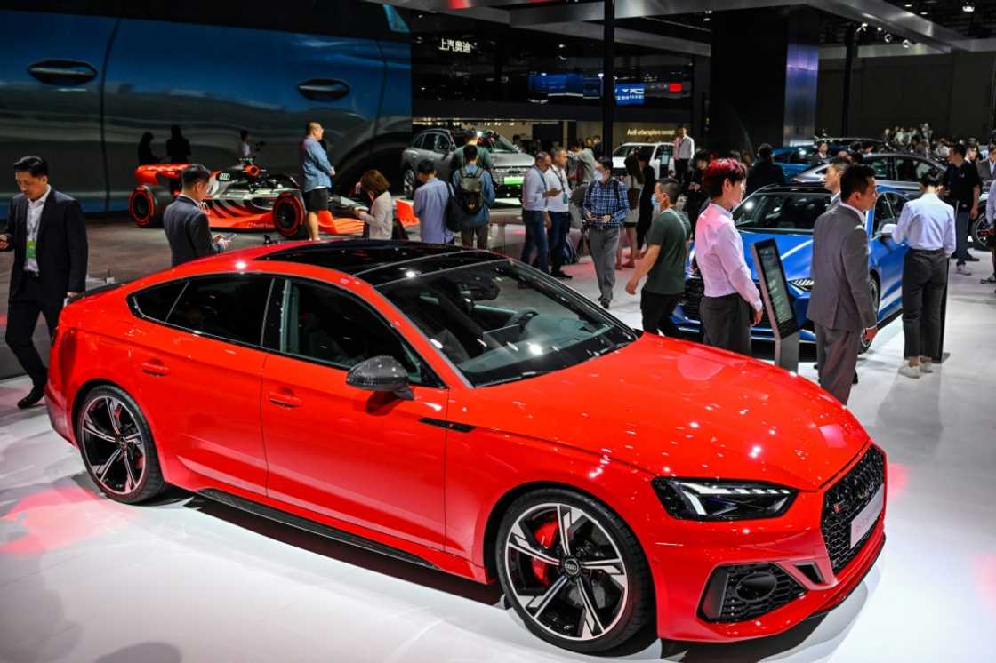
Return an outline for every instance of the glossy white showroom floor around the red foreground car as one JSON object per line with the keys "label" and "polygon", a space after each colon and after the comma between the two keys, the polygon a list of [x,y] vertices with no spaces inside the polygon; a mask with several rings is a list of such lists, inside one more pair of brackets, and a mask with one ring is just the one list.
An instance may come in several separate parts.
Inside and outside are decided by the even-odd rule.
{"label": "glossy white showroom floor around the red foreground car", "polygon": [[[594,295],[589,264],[568,270]],[[861,363],[853,408],[888,451],[892,481],[888,541],[865,583],[829,616],[782,636],[654,641],[626,660],[992,660],[996,296],[978,274],[952,279],[947,363],[917,381],[898,376],[898,323]],[[637,324],[637,301],[622,286],[614,311]],[[811,362],[801,372],[812,377]],[[25,389],[23,378],[0,382],[2,661],[586,658],[530,635],[494,588],[182,492],[144,507],[106,500],[44,409],[15,408]]]}

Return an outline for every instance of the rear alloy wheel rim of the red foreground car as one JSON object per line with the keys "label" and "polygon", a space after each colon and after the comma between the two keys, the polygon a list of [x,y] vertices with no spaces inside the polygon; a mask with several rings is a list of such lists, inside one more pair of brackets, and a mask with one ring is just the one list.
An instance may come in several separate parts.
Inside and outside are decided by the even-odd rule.
{"label": "rear alloy wheel rim of the red foreground car", "polygon": [[101,488],[116,495],[137,490],[145,475],[145,438],[135,414],[118,398],[98,395],[80,410],[83,457]]}

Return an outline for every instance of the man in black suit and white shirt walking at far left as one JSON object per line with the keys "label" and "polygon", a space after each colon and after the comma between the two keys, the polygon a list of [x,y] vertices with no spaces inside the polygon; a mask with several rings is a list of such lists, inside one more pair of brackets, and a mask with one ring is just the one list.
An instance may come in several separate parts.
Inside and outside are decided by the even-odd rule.
{"label": "man in black suit and white shirt walking at far left", "polygon": [[17,403],[26,408],[45,395],[48,378],[32,341],[39,314],[55,332],[66,300],[87,288],[87,226],[80,203],[49,185],[45,159],[18,159],[14,174],[21,193],[10,203],[0,251],[14,252],[7,344],[31,377],[31,391]]}

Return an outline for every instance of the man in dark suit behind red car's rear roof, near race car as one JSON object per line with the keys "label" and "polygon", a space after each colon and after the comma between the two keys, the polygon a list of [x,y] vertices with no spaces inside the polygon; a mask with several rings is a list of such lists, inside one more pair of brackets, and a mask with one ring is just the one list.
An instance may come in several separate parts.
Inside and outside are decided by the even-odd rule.
{"label": "man in dark suit behind red car's rear roof, near race car", "polygon": [[169,241],[172,265],[221,253],[228,242],[221,235],[211,237],[207,214],[200,204],[207,197],[211,171],[199,163],[191,163],[180,172],[183,188],[176,200],[162,212],[162,229]]}

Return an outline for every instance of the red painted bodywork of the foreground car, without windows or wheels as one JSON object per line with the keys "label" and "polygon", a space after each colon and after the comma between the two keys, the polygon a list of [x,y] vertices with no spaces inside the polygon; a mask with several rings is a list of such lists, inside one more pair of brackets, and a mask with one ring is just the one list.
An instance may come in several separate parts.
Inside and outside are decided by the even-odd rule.
{"label": "red painted bodywork of the foreground car, without windows or wheels", "polygon": [[[131,394],[146,416],[165,480],[213,488],[410,552],[477,581],[493,579],[488,536],[503,498],[558,484],[601,500],[649,562],[657,633],[726,641],[771,635],[842,601],[884,542],[884,510],[865,548],[833,572],[823,496],[871,446],[846,408],[812,382],[738,354],[643,334],[622,349],[552,373],[472,388],[367,282],[308,264],[256,261],[280,247],[200,259],[68,306],[50,365],[55,429],[94,380]],[[136,318],[126,298],[195,275],[266,273],[315,279],[369,303],[446,388],[413,386],[386,403],[346,384],[346,371]],[[168,369],[162,374],[161,368]],[[154,368],[154,370],[153,370]],[[276,403],[291,399],[293,409]],[[473,425],[454,432],[431,417]],[[659,476],[760,480],[795,488],[768,520],[671,518]],[[698,615],[720,565],[774,562],[807,592],[746,622]],[[815,562],[816,584],[793,562]]]}

